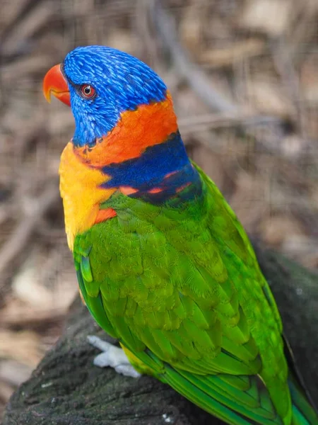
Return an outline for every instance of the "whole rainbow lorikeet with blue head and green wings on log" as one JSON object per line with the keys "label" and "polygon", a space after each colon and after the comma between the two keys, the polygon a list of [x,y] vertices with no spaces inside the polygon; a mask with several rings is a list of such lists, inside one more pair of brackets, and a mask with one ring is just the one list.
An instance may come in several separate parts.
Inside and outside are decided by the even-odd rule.
{"label": "whole rainbow lorikeet with blue head and green wings on log", "polygon": [[108,364],[129,374],[128,357],[228,424],[318,424],[249,239],[189,160],[160,77],[124,52],[78,47],[44,92],[75,118],[60,190],[81,293],[126,353]]}

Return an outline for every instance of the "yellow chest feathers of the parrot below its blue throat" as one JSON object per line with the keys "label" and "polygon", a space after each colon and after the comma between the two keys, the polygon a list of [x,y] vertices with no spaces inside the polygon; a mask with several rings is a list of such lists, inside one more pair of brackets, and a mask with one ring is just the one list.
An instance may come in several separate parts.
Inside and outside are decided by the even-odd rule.
{"label": "yellow chest feathers of the parrot below its blue throat", "polygon": [[99,187],[109,181],[110,177],[98,169],[83,164],[75,154],[71,142],[61,154],[59,175],[67,242],[69,248],[73,250],[76,234],[83,233],[93,226],[100,203],[110,198],[116,189]]}

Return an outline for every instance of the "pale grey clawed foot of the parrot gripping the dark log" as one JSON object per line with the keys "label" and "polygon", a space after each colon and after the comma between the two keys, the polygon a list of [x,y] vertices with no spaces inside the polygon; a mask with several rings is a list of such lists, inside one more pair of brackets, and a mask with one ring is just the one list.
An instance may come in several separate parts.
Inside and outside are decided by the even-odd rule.
{"label": "pale grey clawed foot of the parrot gripping the dark log", "polygon": [[131,378],[139,378],[141,374],[137,372],[134,367],[129,363],[129,360],[122,348],[113,346],[107,341],[102,341],[98,336],[89,335],[87,337],[90,345],[98,348],[102,353],[94,358],[94,365],[100,368],[110,366],[114,368],[117,373],[122,373]]}

